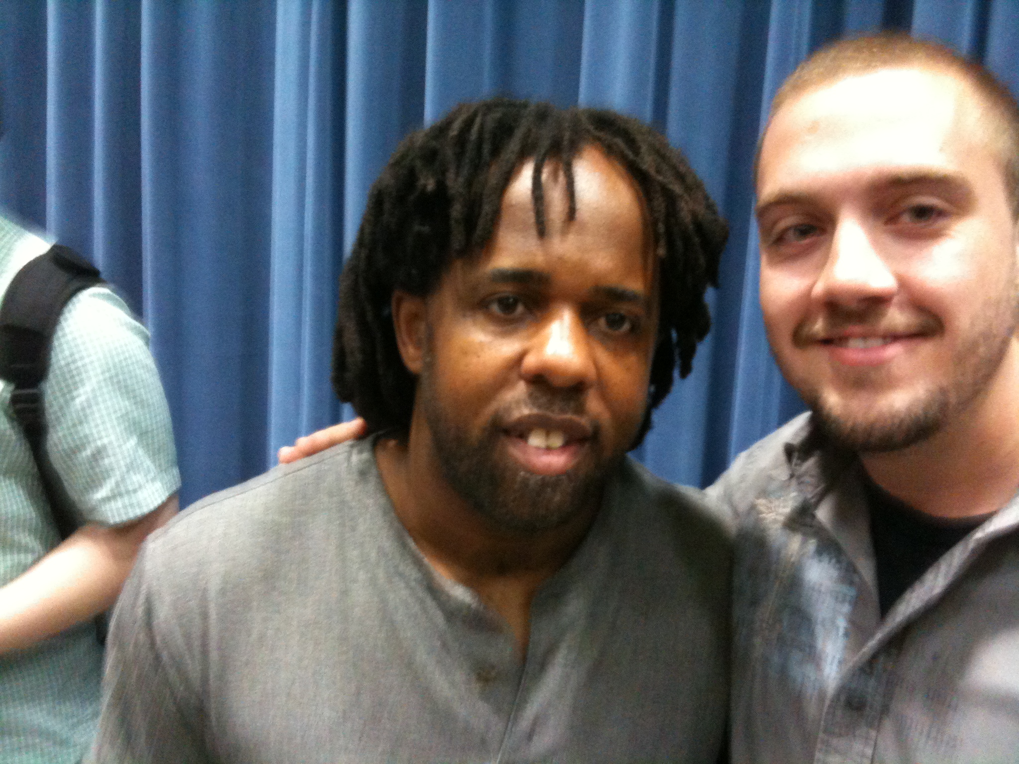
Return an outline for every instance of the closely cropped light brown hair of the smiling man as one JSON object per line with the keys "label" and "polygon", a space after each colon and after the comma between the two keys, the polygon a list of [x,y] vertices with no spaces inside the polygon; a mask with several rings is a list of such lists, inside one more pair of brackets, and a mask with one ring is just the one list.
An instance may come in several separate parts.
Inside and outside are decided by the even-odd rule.
{"label": "closely cropped light brown hair of the smiling man", "polygon": [[986,68],[941,43],[917,40],[903,33],[884,33],[841,40],[821,48],[783,83],[771,101],[769,122],[784,105],[808,91],[892,68],[936,71],[969,86],[986,109],[987,126],[1000,143],[1006,193],[1013,215],[1019,217],[1019,105],[1009,89]]}

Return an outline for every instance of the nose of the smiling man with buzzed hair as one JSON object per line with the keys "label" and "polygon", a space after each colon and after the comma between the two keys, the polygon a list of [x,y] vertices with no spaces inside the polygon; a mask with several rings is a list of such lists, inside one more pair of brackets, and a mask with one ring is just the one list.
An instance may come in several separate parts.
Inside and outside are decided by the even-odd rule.
{"label": "nose of the smiling man with buzzed hair", "polygon": [[853,306],[891,299],[897,287],[895,274],[866,229],[853,220],[840,221],[813,296],[824,303]]}

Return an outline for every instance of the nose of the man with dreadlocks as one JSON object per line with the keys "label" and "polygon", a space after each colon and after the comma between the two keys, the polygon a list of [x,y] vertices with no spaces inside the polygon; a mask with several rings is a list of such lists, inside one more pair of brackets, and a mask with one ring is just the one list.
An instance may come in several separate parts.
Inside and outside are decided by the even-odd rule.
{"label": "nose of the man with dreadlocks", "polygon": [[521,365],[528,382],[586,388],[594,384],[592,338],[576,311],[550,312],[535,332]]}

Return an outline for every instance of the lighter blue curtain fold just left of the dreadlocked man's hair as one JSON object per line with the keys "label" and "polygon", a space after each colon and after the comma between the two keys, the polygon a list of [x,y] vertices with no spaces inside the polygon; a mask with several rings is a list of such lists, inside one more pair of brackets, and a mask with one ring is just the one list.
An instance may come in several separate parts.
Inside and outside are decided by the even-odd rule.
{"label": "lighter blue curtain fold just left of the dreadlocked man's hair", "polygon": [[322,380],[341,263],[322,255],[342,245],[343,155],[333,127],[343,114],[344,25],[344,8],[329,0],[276,8],[267,463],[275,444],[339,417]]}

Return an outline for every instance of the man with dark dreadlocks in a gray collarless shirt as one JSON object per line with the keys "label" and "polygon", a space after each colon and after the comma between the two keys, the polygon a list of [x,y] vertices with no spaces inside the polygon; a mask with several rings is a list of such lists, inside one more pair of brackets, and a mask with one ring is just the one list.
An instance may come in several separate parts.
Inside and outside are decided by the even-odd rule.
{"label": "man with dark dreadlocks in a gray collarless shirt", "polygon": [[333,382],[371,436],[146,547],[96,759],[715,761],[728,539],[625,454],[725,238],[619,114],[492,100],[407,139],[340,285]]}

